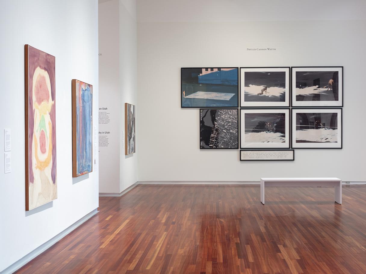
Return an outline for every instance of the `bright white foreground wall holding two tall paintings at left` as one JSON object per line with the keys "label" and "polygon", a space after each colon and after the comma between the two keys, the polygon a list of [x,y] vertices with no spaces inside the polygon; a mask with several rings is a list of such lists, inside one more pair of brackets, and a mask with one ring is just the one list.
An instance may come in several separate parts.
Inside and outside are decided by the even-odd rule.
{"label": "bright white foreground wall holding two tall paintings at left", "polygon": [[[96,0],[1,1],[0,271],[98,207],[98,167],[72,178],[71,79],[93,85],[98,124]],[[25,211],[24,45],[56,57],[58,198]],[[4,128],[12,130],[12,172],[4,174]],[[93,152],[95,153],[95,152]]]}

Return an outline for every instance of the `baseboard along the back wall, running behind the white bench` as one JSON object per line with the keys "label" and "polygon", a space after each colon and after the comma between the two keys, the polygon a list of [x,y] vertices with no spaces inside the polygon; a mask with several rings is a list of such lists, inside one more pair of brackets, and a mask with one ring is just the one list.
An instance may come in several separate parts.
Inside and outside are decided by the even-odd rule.
{"label": "baseboard along the back wall, running behind the white bench", "polygon": [[[346,184],[349,181],[342,181]],[[260,184],[259,181],[139,181],[139,184]],[[350,182],[349,184],[366,184],[366,182]],[[348,183],[347,183],[348,185]]]}

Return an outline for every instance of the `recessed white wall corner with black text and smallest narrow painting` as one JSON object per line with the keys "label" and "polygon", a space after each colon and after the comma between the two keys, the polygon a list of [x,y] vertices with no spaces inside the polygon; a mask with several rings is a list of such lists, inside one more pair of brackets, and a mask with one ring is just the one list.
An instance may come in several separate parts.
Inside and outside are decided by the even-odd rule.
{"label": "recessed white wall corner with black text and smallest narrow painting", "polygon": [[99,130],[109,139],[108,146],[99,147],[99,192],[114,195],[137,182],[139,148],[131,155],[124,152],[124,103],[139,107],[135,1],[100,1],[99,54],[99,107],[107,107],[110,117],[110,122],[100,124]]}

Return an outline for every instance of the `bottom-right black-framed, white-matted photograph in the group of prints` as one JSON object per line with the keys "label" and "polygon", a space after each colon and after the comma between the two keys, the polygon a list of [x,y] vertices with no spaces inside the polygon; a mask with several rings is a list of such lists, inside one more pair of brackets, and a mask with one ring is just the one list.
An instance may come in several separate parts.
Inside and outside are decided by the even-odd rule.
{"label": "bottom-right black-framed, white-matted photograph in the group of prints", "polygon": [[342,148],[342,109],[292,109],[292,148]]}

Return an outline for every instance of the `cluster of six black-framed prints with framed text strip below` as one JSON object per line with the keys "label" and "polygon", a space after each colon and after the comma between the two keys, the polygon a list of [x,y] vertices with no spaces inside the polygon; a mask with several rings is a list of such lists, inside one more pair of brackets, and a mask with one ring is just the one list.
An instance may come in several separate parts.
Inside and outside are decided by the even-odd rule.
{"label": "cluster of six black-framed prints with framed text strip below", "polygon": [[181,107],[200,108],[200,149],[293,161],[342,148],[343,66],[181,68]]}

